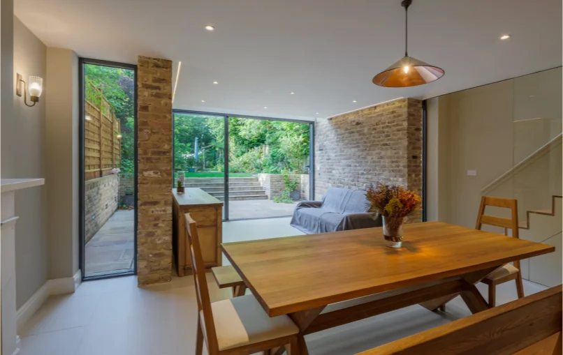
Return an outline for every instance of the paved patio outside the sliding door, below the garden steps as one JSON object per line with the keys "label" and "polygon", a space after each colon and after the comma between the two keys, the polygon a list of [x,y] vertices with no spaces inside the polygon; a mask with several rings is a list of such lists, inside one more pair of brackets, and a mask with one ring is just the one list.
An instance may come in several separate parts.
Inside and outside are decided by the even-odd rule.
{"label": "paved patio outside the sliding door, below the garden steps", "polygon": [[238,220],[242,218],[268,218],[292,216],[295,204],[275,203],[271,199],[247,199],[228,203],[228,218]]}

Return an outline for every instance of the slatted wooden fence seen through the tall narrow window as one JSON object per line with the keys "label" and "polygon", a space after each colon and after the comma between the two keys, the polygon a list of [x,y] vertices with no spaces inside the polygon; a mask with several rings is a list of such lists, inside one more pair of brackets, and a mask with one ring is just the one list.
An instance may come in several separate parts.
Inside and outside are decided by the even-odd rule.
{"label": "slatted wooden fence seen through the tall narrow window", "polygon": [[121,163],[119,120],[100,89],[86,82],[84,158],[85,180],[111,174]]}

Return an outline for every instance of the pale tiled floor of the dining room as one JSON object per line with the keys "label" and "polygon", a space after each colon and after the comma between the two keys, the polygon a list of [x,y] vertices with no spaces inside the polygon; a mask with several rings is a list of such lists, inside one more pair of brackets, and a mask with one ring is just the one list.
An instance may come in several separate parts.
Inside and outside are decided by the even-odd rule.
{"label": "pale tiled floor of the dining room", "polygon": [[[224,241],[301,234],[288,218],[224,223]],[[208,277],[212,300],[231,296]],[[485,285],[480,285],[485,292]],[[526,294],[544,289],[525,282]],[[498,287],[497,299],[516,299],[513,282]],[[84,282],[75,294],[51,297],[20,331],[22,355],[191,355],[197,306],[193,279],[138,288],[134,276]],[[310,354],[356,354],[469,315],[458,299],[446,313],[419,305],[307,335]],[[206,354],[205,350],[204,353]]]}

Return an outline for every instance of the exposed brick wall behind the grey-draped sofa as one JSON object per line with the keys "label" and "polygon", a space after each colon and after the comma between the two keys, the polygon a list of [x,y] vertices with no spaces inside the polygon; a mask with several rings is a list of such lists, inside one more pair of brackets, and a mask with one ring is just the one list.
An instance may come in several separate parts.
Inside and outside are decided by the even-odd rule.
{"label": "exposed brick wall behind the grey-draped sofa", "polygon": [[[402,99],[315,123],[315,199],[376,183],[422,190],[422,103]],[[420,220],[420,213],[411,220]]]}

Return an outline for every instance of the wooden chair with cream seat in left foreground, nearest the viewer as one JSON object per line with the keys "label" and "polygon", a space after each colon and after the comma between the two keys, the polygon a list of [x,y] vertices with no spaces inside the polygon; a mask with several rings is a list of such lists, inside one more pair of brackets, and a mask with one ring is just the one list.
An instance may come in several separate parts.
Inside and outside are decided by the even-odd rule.
{"label": "wooden chair with cream seat in left foreground, nearest the viewer", "polygon": [[189,213],[185,218],[199,314],[196,355],[203,340],[209,355],[269,354],[276,347],[298,354],[299,328],[286,315],[268,317],[253,295],[211,303],[196,222]]}

